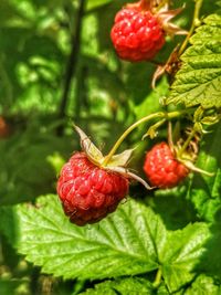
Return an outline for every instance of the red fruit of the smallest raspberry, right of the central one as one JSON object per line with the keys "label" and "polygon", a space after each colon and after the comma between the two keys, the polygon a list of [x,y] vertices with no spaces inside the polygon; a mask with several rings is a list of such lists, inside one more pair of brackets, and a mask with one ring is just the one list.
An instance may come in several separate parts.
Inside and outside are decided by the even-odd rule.
{"label": "red fruit of the smallest raspberry, right of the central one", "polygon": [[183,180],[189,169],[179,162],[170,147],[160,143],[147,152],[144,170],[152,187],[172,188]]}

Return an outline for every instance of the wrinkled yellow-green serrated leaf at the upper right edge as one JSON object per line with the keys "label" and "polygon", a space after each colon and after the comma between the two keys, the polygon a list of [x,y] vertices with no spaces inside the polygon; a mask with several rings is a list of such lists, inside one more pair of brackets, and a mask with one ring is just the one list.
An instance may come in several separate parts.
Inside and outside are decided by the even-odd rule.
{"label": "wrinkled yellow-green serrated leaf at the upper right edge", "polygon": [[221,17],[209,15],[190,43],[166,103],[221,107]]}

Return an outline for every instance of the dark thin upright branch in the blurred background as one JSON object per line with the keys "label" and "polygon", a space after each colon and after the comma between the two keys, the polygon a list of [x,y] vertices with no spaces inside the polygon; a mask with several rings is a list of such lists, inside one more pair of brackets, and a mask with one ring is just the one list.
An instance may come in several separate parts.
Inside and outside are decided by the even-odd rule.
{"label": "dark thin upright branch in the blurred background", "polygon": [[[59,119],[65,117],[66,107],[69,103],[69,95],[72,80],[76,72],[77,60],[78,60],[78,52],[81,48],[81,33],[82,33],[82,19],[84,17],[84,8],[86,0],[80,0],[78,12],[76,15],[76,24],[75,24],[75,32],[72,34],[72,49],[70,56],[67,59],[66,70],[65,70],[65,78],[64,78],[64,88],[61,98],[60,112],[59,112]],[[63,134],[63,126],[57,129],[57,134]]]}

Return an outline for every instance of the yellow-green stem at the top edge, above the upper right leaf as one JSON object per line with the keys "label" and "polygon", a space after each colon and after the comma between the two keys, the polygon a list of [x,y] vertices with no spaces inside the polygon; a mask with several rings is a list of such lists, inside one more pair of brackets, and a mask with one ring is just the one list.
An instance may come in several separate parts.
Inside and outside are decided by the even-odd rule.
{"label": "yellow-green stem at the top edge, above the upper right leaf", "polygon": [[196,2],[196,6],[194,6],[194,13],[193,13],[193,19],[192,19],[192,24],[191,24],[191,28],[189,30],[189,33],[188,33],[187,38],[185,39],[182,45],[179,49],[178,56],[180,56],[183,53],[183,51],[186,50],[186,48],[188,45],[189,39],[192,35],[194,29],[197,27],[199,27],[199,24],[200,24],[200,10],[201,10],[203,0],[194,0],[194,2]]}

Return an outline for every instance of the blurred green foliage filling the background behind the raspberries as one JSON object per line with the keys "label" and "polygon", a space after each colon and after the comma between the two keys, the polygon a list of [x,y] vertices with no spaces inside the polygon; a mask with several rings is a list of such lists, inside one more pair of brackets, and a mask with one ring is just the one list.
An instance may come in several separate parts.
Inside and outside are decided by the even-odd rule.
{"label": "blurred green foliage filling the background behind the raspberries", "polygon": [[[115,13],[125,1],[87,0],[84,1],[83,13],[80,13],[82,1],[84,0],[0,1],[0,206],[34,202],[40,194],[55,192],[55,181],[62,164],[80,146],[73,123],[91,134],[97,146],[107,151],[126,126],[160,109],[159,101],[168,93],[166,78],[160,81],[155,92],[150,87],[156,65],[122,62],[113,50],[109,31]],[[186,3],[186,10],[176,21],[188,29],[193,1],[173,2],[173,8]],[[215,10],[214,1],[211,3],[210,0],[204,0],[203,15]],[[183,36],[168,39],[156,62],[165,62],[175,45],[182,40]],[[71,59],[74,49],[75,55]],[[69,69],[73,72],[70,73]],[[65,95],[66,86],[69,91]],[[64,112],[61,112],[64,101]],[[139,128],[125,145],[137,146],[137,139],[140,139],[145,130],[145,126]],[[165,130],[159,136],[164,135]],[[136,170],[140,169],[140,159],[147,146],[148,143],[144,141],[137,147],[131,161]],[[198,181],[199,179],[193,179],[193,183]],[[135,190],[138,196],[144,192],[139,186]],[[148,196],[147,203],[161,214],[168,229],[177,230],[196,220],[191,201],[188,200],[187,203],[183,199],[186,191],[182,188],[180,190],[179,200],[178,193],[171,191],[167,192],[169,199],[166,201],[160,192],[159,196],[156,193],[155,200]],[[191,190],[194,193],[192,187]],[[198,192],[193,196],[196,210],[207,220],[209,209],[202,211],[199,207],[201,196]],[[170,207],[173,201],[176,209]],[[212,201],[209,200],[208,204],[210,203]],[[180,215],[183,208],[187,211]],[[219,241],[220,238],[215,243]],[[143,278],[128,278],[128,282],[130,280],[134,282],[131,289],[139,288]],[[198,280],[190,286],[188,294],[192,294],[198,285],[203,286],[207,280],[213,284],[207,277]],[[125,282],[128,283],[127,278],[123,283],[126,284]],[[149,281],[146,284],[149,285]],[[106,285],[108,282],[98,285],[97,292],[99,287],[106,289]],[[114,286],[115,282],[110,285]],[[87,287],[93,287],[93,283],[82,280],[62,281],[40,274],[38,267],[24,262],[6,239],[0,236],[0,294],[74,295]],[[215,286],[212,287],[217,289]],[[155,291],[150,288],[154,294]],[[96,294],[96,291],[92,291],[92,294]],[[168,294],[164,285],[158,294]]]}

